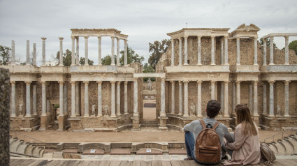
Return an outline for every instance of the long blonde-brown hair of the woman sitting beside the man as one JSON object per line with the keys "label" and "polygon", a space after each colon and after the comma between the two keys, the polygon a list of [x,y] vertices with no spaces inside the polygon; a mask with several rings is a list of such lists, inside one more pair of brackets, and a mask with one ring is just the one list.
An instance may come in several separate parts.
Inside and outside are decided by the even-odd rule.
{"label": "long blonde-brown hair of the woman sitting beside the man", "polygon": [[247,105],[236,105],[235,112],[237,116],[236,123],[242,124],[243,135],[257,135],[249,107]]}

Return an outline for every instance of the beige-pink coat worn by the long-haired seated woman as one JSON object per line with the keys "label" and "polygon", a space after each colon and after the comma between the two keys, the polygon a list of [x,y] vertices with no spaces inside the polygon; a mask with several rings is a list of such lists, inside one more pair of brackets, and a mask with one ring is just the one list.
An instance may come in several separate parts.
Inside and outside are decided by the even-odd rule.
{"label": "beige-pink coat worn by the long-haired seated woman", "polygon": [[[256,126],[256,124],[254,124]],[[233,150],[232,159],[225,160],[224,165],[248,165],[258,164],[261,158],[259,131],[257,135],[243,135],[241,123],[236,126],[234,133],[235,141],[226,142],[226,148]]]}

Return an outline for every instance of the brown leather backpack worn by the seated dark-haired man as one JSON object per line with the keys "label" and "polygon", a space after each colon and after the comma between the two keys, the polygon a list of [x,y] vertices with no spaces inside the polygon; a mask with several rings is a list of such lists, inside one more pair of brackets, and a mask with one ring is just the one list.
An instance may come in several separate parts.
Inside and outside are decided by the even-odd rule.
{"label": "brown leather backpack worn by the seated dark-haired man", "polygon": [[202,119],[199,121],[203,130],[196,139],[196,160],[201,164],[215,165],[221,160],[221,143],[215,131],[219,122],[217,121],[212,128],[206,128],[204,121]]}

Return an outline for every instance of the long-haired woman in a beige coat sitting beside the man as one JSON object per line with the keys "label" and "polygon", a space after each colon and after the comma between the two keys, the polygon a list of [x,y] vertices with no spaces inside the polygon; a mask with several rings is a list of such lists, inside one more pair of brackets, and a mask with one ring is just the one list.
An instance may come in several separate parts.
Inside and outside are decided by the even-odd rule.
{"label": "long-haired woman in a beige coat sitting beside the man", "polygon": [[252,121],[247,105],[236,105],[236,130],[234,142],[225,142],[226,148],[232,150],[232,159],[225,160],[224,165],[249,165],[260,162],[259,131]]}

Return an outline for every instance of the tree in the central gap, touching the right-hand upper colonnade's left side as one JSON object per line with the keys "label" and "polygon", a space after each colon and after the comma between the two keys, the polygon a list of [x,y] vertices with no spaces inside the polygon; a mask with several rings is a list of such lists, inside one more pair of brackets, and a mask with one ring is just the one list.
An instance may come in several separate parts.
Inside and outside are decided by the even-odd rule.
{"label": "tree in the central gap, touching the right-hand upper colonnade's left side", "polygon": [[167,51],[169,45],[171,45],[171,40],[168,39],[163,39],[161,42],[156,40],[154,43],[149,43],[149,52],[152,52],[152,54],[148,59],[148,63],[150,63],[150,66],[152,66],[154,70],[156,70],[159,59],[162,54]]}

